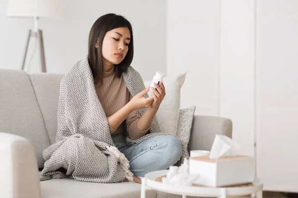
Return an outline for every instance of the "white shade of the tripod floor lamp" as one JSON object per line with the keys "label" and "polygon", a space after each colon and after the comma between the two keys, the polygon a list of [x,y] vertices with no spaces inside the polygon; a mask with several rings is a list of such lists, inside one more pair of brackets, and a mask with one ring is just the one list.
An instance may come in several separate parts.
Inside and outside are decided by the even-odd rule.
{"label": "white shade of the tripod floor lamp", "polygon": [[60,18],[62,0],[8,0],[6,16]]}

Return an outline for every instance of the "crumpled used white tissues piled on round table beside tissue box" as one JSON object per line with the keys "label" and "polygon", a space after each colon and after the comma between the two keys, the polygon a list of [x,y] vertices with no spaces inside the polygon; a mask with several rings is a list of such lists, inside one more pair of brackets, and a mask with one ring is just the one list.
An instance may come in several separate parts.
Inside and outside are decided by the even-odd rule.
{"label": "crumpled used white tissues piled on round table beside tissue box", "polygon": [[185,158],[184,163],[178,168],[170,167],[167,177],[163,177],[161,180],[164,184],[191,186],[197,178],[199,178],[199,174],[189,174],[189,163]]}

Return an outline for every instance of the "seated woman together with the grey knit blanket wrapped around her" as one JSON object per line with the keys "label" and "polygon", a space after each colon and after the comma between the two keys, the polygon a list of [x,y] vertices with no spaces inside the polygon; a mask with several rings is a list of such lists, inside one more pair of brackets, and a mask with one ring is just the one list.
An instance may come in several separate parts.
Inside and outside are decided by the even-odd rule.
{"label": "seated woman together with the grey knit blanket wrapped around her", "polygon": [[58,130],[55,143],[43,151],[43,175],[141,183],[139,177],[146,173],[188,157],[184,143],[160,133],[154,115],[164,99],[164,85],[155,84],[148,98],[150,88],[145,89],[130,66],[133,54],[129,21],[116,14],[95,21],[88,56],[61,80]]}

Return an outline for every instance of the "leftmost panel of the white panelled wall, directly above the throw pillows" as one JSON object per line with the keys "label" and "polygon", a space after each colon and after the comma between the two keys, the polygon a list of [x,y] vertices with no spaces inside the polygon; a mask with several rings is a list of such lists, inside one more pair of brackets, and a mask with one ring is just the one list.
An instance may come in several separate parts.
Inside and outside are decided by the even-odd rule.
{"label": "leftmost panel of the white panelled wall, directly above the throw pillows", "polygon": [[167,74],[187,71],[181,108],[218,114],[219,0],[167,0]]}

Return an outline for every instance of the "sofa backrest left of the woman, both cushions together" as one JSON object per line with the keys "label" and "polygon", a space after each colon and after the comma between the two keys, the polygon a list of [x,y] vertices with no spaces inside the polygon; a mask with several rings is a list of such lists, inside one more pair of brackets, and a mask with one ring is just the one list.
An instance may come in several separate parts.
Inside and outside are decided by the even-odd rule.
{"label": "sofa backrest left of the woman, both cushions together", "polygon": [[42,151],[55,142],[62,77],[0,69],[0,132],[30,140],[39,168],[44,165]]}

